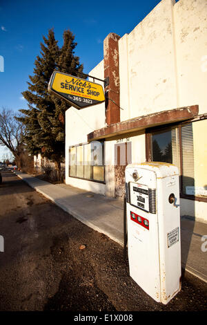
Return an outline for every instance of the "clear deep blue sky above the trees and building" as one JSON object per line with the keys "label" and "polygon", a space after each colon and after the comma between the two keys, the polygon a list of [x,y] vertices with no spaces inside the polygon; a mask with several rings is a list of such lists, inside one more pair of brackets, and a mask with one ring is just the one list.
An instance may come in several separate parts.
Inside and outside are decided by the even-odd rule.
{"label": "clear deep blue sky above the trees and building", "polygon": [[54,28],[59,46],[63,31],[69,28],[73,32],[77,42],[75,55],[83,63],[83,72],[89,73],[103,59],[103,39],[110,32],[121,37],[131,32],[159,2],[0,0],[0,55],[4,59],[0,108],[18,111],[28,107],[21,92],[27,89],[28,75],[33,74],[34,59],[48,29]]}

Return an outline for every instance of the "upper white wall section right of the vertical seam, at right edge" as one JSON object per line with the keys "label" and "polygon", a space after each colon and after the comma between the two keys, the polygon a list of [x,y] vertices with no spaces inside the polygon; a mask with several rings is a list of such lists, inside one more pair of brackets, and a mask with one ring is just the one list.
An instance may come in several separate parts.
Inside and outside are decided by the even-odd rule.
{"label": "upper white wall section right of the vertical seam, at right edge", "polygon": [[179,106],[207,112],[207,1],[179,0],[173,8]]}

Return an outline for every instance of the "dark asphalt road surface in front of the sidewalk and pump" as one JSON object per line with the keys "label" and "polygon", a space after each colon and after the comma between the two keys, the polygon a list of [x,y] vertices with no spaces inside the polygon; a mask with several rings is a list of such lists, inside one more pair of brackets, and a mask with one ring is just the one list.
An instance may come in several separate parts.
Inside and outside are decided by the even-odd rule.
{"label": "dark asphalt road surface in front of the sidewalk and pump", "polygon": [[130,278],[119,244],[63,212],[12,171],[2,176],[1,311],[206,310],[203,281],[184,272],[181,292],[166,306],[158,304]]}

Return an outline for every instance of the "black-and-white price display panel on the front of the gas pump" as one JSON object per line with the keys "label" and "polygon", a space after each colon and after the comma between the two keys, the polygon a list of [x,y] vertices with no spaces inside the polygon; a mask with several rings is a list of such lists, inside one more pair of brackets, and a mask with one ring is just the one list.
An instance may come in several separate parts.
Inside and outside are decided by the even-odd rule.
{"label": "black-and-white price display panel on the front of the gas pump", "polygon": [[130,204],[149,212],[148,186],[130,182]]}

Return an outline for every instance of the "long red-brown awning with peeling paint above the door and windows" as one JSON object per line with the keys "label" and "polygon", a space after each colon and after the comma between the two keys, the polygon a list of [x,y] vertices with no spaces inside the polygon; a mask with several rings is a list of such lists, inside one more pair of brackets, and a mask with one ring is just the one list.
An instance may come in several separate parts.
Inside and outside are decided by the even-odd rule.
{"label": "long red-brown awning with peeling paint above the door and windows", "polygon": [[119,136],[128,132],[144,130],[159,125],[181,122],[195,118],[199,113],[199,106],[186,106],[179,109],[169,109],[148,115],[142,115],[138,118],[132,118],[123,122],[110,124],[107,127],[93,131],[88,134],[88,142],[112,136]]}

